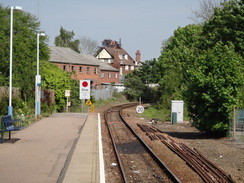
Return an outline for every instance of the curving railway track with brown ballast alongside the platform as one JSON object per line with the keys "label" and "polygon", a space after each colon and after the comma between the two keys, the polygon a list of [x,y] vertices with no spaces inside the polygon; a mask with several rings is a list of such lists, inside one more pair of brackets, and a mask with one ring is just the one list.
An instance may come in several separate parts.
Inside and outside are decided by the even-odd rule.
{"label": "curving railway track with brown ballast alongside the platform", "polygon": [[123,104],[105,112],[124,182],[181,182],[123,118],[122,110],[137,104]]}

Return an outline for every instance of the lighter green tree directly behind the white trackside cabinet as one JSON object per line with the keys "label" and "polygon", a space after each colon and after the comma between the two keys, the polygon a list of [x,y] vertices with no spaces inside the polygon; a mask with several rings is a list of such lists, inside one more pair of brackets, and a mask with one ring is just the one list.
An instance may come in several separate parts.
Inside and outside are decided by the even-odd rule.
{"label": "lighter green tree directly behind the white trackside cabinet", "polygon": [[161,97],[158,104],[161,108],[169,109],[171,100],[183,99],[183,92],[188,82],[188,74],[185,71],[193,66],[194,58],[199,52],[197,45],[201,31],[200,25],[179,27],[167,44],[163,42],[158,64],[161,73],[159,81]]}

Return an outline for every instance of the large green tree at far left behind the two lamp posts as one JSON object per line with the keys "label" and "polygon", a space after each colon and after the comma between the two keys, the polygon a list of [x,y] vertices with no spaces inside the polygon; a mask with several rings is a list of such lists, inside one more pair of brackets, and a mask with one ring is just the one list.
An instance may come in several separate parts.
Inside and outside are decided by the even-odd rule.
{"label": "large green tree at far left behind the two lamp posts", "polygon": [[[10,9],[0,5],[0,86],[9,85]],[[34,105],[37,33],[40,22],[28,12],[14,12],[13,17],[13,87],[20,88],[22,98]],[[40,59],[48,59],[49,49],[40,38]],[[13,103],[13,105],[15,105]]]}

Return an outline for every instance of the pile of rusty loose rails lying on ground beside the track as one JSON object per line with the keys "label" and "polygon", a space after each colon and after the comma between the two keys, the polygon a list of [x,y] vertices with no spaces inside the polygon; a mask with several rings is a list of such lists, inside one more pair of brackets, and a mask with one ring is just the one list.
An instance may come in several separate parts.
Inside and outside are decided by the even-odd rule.
{"label": "pile of rusty loose rails lying on ground beside the track", "polygon": [[234,180],[214,163],[207,160],[198,150],[191,149],[184,143],[176,142],[161,130],[144,124],[137,124],[151,140],[160,140],[169,149],[187,162],[206,183],[233,183]]}

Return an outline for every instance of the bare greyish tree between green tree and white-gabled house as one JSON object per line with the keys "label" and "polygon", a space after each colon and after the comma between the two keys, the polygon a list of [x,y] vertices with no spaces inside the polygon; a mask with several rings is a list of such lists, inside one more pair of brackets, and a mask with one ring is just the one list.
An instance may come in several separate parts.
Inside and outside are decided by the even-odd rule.
{"label": "bare greyish tree between green tree and white-gabled house", "polygon": [[79,42],[80,53],[94,55],[98,50],[98,42],[89,37],[82,36]]}

